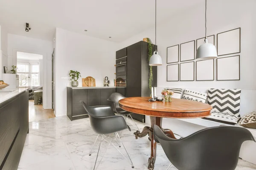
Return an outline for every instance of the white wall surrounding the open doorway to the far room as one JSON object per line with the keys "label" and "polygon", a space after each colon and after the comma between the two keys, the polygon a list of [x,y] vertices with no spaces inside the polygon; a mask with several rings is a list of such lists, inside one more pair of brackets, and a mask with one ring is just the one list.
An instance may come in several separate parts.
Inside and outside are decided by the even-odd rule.
{"label": "white wall surrounding the open doorway to the far room", "polygon": [[47,99],[47,102],[43,102],[43,107],[44,109],[52,108],[52,77],[49,76],[52,69],[49,69],[51,68],[51,62],[48,62],[52,59],[52,42],[8,34],[8,68],[11,68],[11,65],[17,65],[17,51],[43,55],[42,68],[44,71],[41,73],[41,76],[44,79],[41,81],[43,81],[44,89],[43,98]]}

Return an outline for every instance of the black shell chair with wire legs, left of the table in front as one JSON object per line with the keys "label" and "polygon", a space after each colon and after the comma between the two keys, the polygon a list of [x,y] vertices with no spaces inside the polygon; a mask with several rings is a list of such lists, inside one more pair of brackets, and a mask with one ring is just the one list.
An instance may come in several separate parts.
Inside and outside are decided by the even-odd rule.
{"label": "black shell chair with wire legs, left of the table in front", "polygon": [[[115,134],[115,136],[112,137],[111,141],[108,142],[108,147],[110,146],[110,144],[112,144],[118,150],[118,148],[113,144],[113,142],[115,140],[119,140],[120,143],[122,144],[123,148],[125,149],[125,146],[122,143],[122,140],[120,139],[120,136],[118,135],[117,132],[119,132],[121,130],[125,130],[125,129],[128,129],[131,131],[131,128],[126,124],[123,116],[119,116],[119,115],[105,116],[105,115],[113,115],[114,114],[112,111],[112,108],[110,106],[88,106],[83,101],[80,101],[80,103],[83,105],[84,109],[87,111],[87,113],[89,115],[91,127],[101,137],[98,153],[96,156],[96,161],[95,161],[94,168],[93,168],[93,170],[96,170],[97,167],[99,166],[98,165],[96,167],[97,159],[99,156],[99,150],[101,148],[102,142],[106,141],[106,139],[105,139],[106,135],[111,134],[111,133]],[[111,135],[108,135],[108,138],[111,138]],[[126,149],[125,149],[125,152],[127,153]],[[121,152],[119,151],[119,153],[121,153]],[[124,156],[124,155],[122,154],[122,156]],[[128,153],[127,153],[127,156],[128,156],[128,159],[124,156],[125,159],[129,163],[131,163],[132,168],[134,168],[134,165],[133,165]],[[103,156],[102,156],[102,158],[103,158]],[[100,162],[101,162],[101,160],[99,161],[99,163]]]}

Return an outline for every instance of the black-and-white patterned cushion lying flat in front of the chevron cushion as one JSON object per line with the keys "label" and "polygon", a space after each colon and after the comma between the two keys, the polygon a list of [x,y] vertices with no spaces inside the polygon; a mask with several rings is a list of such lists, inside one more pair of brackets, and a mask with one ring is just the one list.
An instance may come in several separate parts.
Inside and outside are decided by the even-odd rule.
{"label": "black-and-white patterned cushion lying flat in front of the chevron cushion", "polygon": [[235,116],[232,113],[222,113],[218,111],[213,111],[211,116],[205,117],[204,119],[212,120],[215,122],[226,123],[230,125],[235,125],[238,123],[239,119],[241,118],[238,116]]}

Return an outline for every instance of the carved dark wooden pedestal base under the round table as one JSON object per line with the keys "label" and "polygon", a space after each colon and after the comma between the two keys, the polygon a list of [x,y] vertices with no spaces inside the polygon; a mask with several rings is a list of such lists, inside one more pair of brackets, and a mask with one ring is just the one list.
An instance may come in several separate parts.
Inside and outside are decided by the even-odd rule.
{"label": "carved dark wooden pedestal base under the round table", "polygon": [[148,140],[151,141],[151,155],[150,155],[150,158],[148,158],[148,169],[154,170],[154,163],[156,161],[156,156],[157,156],[157,142],[155,142],[154,140],[154,125],[159,126],[163,130],[163,132],[166,134],[166,136],[169,136],[174,139],[176,138],[172,130],[162,128],[162,117],[150,116],[150,122],[151,122],[151,127],[145,126],[141,133],[139,130],[137,130],[136,132],[134,132],[134,135],[136,139],[138,139],[138,137],[142,138],[148,135]]}

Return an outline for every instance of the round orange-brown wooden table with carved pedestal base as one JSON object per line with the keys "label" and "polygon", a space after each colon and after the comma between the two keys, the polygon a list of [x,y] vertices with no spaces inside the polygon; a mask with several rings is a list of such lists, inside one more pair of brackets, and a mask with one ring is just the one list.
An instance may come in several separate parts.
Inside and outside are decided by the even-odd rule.
{"label": "round orange-brown wooden table with carved pedestal base", "polygon": [[[175,138],[172,130],[162,128],[162,118],[201,118],[209,116],[212,106],[184,99],[172,99],[172,102],[148,102],[150,97],[128,97],[119,100],[119,105],[125,111],[150,116],[151,127],[144,127],[140,133],[137,130],[134,135],[144,137],[148,135],[151,141],[151,156],[148,159],[148,169],[154,170],[156,160],[157,142],[154,141],[154,125],[159,126],[163,132]],[[175,138],[176,139],[176,138]]]}

